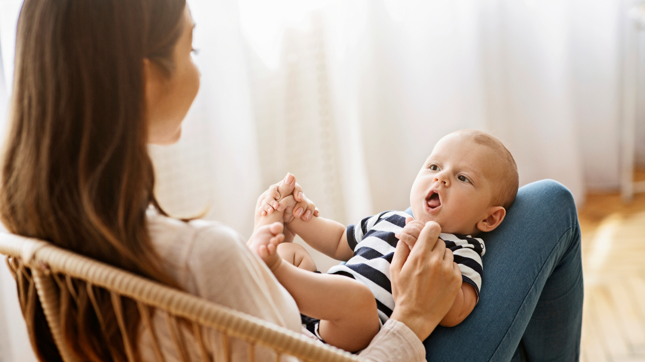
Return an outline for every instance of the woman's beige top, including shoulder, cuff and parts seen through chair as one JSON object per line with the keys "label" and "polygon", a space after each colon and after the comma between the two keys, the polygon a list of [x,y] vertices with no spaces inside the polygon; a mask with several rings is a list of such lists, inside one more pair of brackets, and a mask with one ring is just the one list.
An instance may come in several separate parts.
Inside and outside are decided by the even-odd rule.
{"label": "woman's beige top, including shoulder, cuff and parts seen through chair", "polygon": [[[292,296],[264,262],[246,247],[246,240],[239,233],[218,222],[184,223],[152,211],[148,213],[148,221],[157,252],[167,261],[168,272],[185,291],[311,336],[301,325]],[[166,362],[179,361],[166,320],[155,315],[153,323]],[[223,350],[217,332],[204,330],[203,336],[210,352],[216,354]],[[149,338],[147,333],[141,334],[139,346],[144,361],[155,360]],[[233,361],[248,361],[248,345],[237,340],[231,343]],[[199,352],[191,354],[192,361],[199,361]],[[360,356],[375,362],[425,361],[425,349],[406,325],[389,320]],[[275,354],[256,347],[255,358],[275,361]]]}

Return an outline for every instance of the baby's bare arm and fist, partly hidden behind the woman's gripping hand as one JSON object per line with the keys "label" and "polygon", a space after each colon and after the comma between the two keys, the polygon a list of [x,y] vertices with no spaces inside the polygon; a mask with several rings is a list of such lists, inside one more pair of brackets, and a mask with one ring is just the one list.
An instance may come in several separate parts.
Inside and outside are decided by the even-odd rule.
{"label": "baby's bare arm and fist, partly hidden behind the woman's gripping hand", "polygon": [[[406,225],[401,231],[401,233],[396,234],[395,236],[399,238],[402,242],[408,244],[408,247],[412,249],[412,246],[419,238],[419,233],[423,229],[424,224],[418,220],[414,220],[412,217],[406,218]],[[473,311],[475,305],[477,304],[477,292],[475,288],[468,283],[461,283],[461,289],[457,292],[455,301],[452,303],[452,307],[448,310],[448,313],[441,320],[439,325],[443,327],[455,327],[461,323],[470,312]]]}

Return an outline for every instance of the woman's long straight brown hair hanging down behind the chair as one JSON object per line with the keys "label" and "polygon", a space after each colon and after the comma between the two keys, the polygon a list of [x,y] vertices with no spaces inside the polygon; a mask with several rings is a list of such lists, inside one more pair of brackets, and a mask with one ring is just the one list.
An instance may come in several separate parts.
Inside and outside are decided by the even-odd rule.
{"label": "woman's long straight brown hair hanging down behind the chair", "polygon": [[[147,149],[143,61],[172,74],[184,6],[185,0],[25,0],[0,190],[0,218],[9,231],[176,284],[146,224],[150,205],[163,211]],[[60,361],[28,287],[30,272],[14,276],[37,357]],[[126,361],[109,294],[74,283],[74,298],[61,298],[66,343],[84,361]],[[136,330],[136,306],[123,307],[128,329]]]}

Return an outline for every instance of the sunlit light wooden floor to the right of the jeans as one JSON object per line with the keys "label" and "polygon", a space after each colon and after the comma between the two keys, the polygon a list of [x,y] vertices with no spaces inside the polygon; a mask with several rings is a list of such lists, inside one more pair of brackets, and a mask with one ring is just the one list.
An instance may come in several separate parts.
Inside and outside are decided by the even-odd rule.
{"label": "sunlit light wooden floor to the right of the jeans", "polygon": [[581,361],[645,362],[645,194],[590,195],[579,211],[584,307]]}

